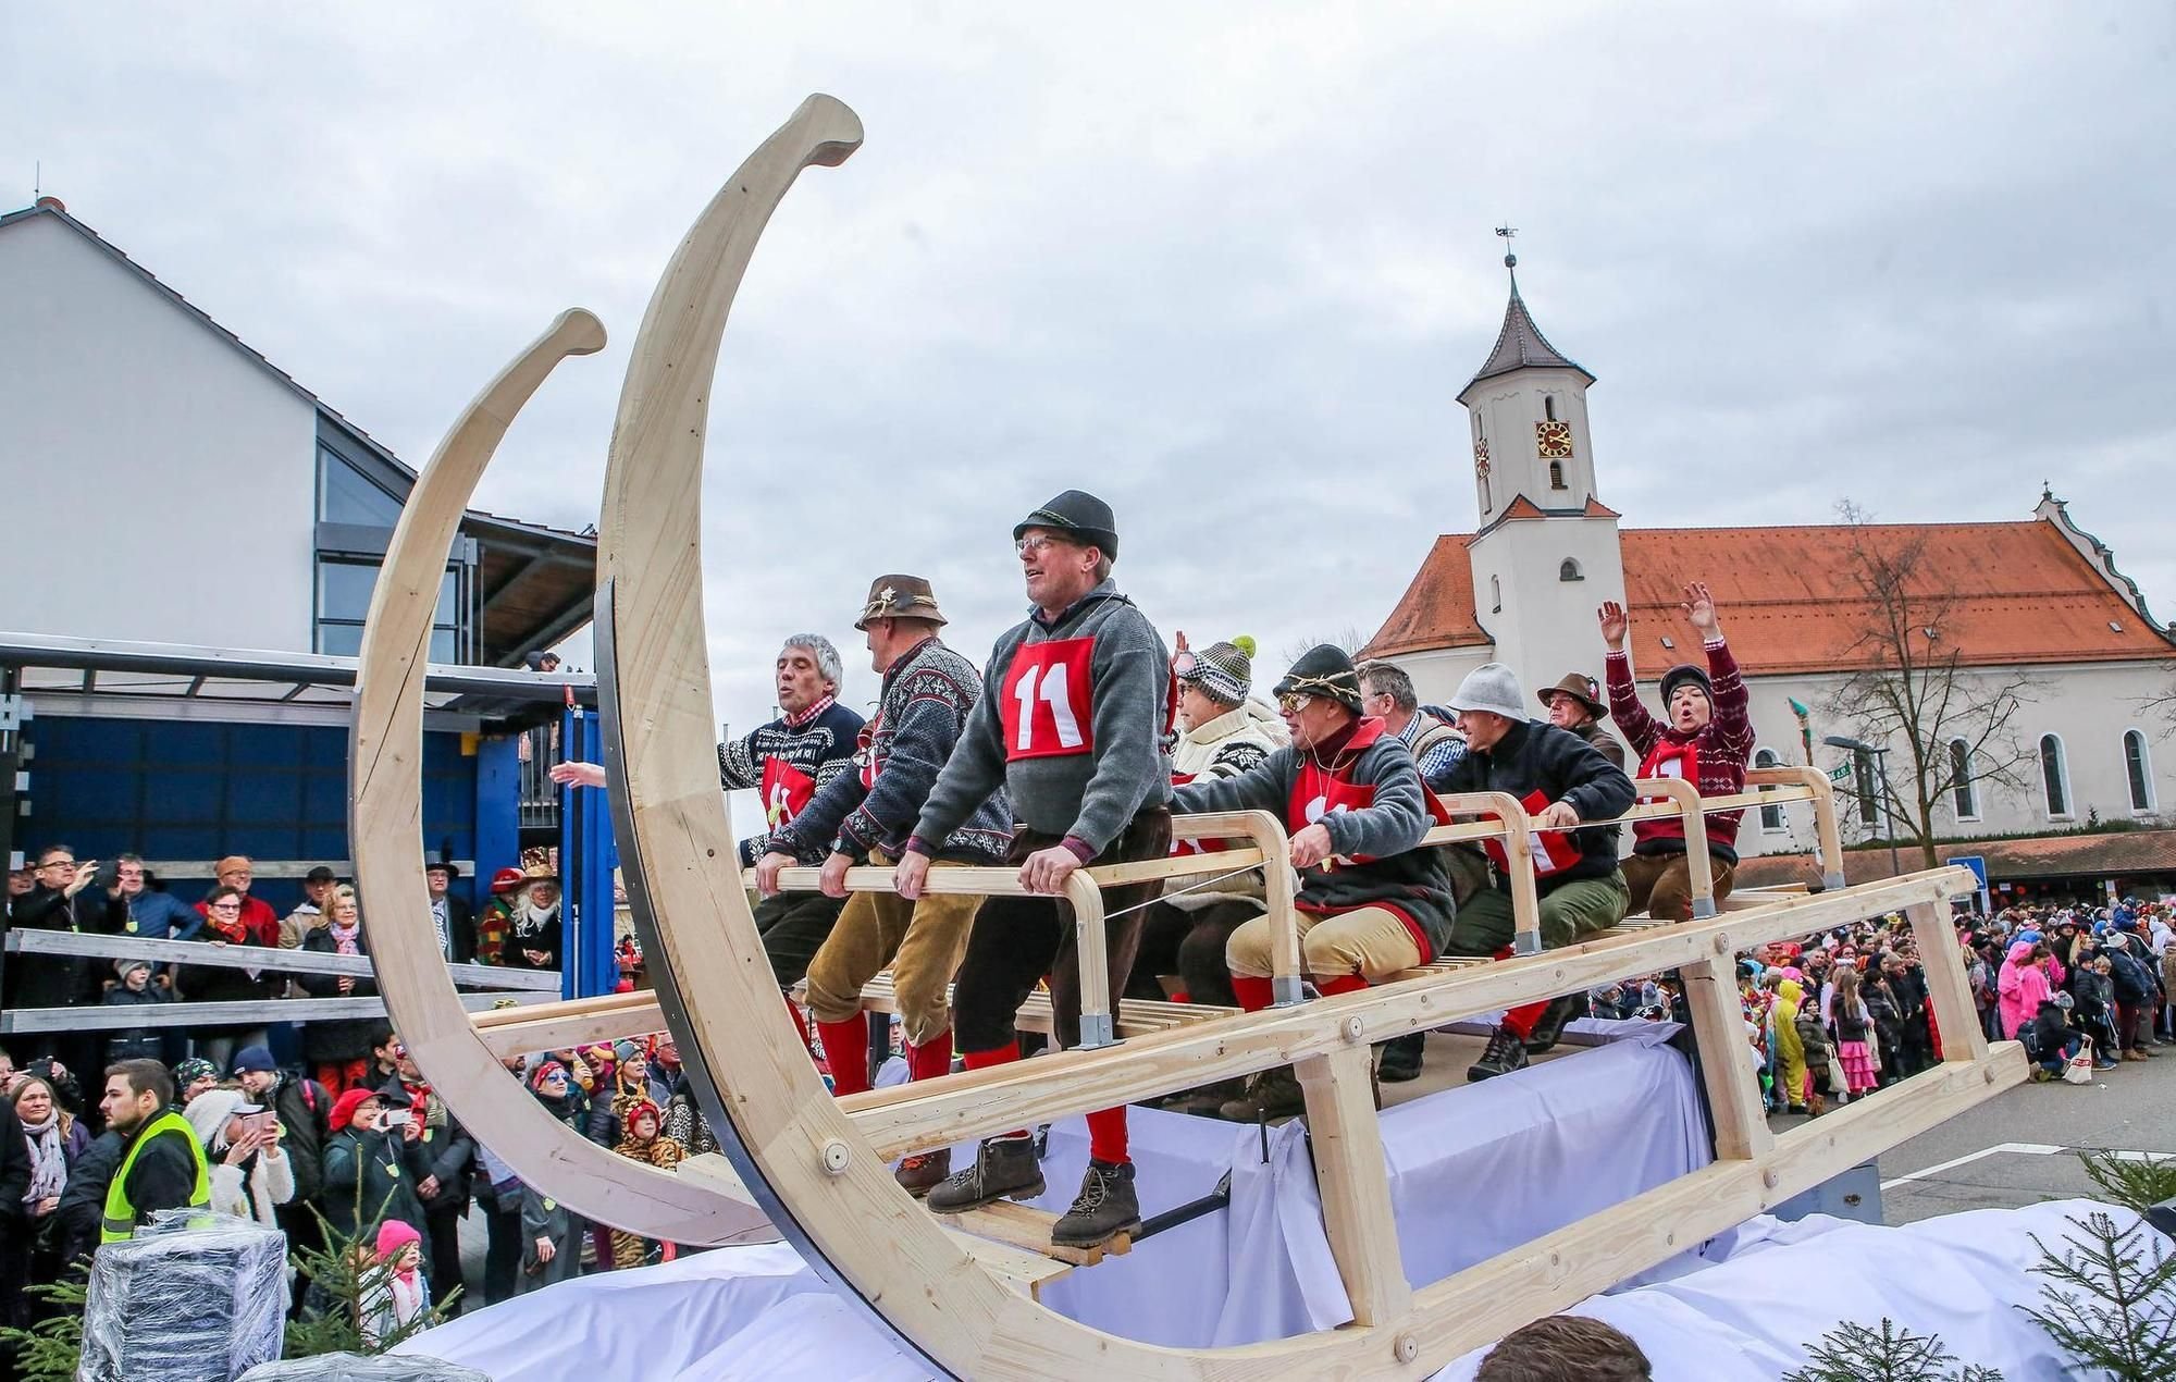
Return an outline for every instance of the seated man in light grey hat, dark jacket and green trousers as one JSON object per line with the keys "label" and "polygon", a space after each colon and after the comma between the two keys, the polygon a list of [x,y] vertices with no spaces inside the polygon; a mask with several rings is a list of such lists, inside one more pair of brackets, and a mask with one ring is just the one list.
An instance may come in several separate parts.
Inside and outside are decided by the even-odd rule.
{"label": "seated man in light grey hat, dark jacket and green trousers", "polygon": [[[1534,890],[1541,894],[1541,942],[1549,949],[1623,921],[1632,892],[1617,868],[1617,827],[1632,807],[1632,779],[1584,738],[1534,720],[1519,677],[1501,662],[1473,668],[1451,696],[1467,757],[1451,770],[1447,792],[1510,792],[1534,818]],[[1447,955],[1501,955],[1517,923],[1510,908],[1508,855],[1501,840],[1484,840],[1497,881],[1458,908]],[[1488,1049],[1467,1079],[1506,1075],[1545,1051],[1571,1019],[1578,997],[1530,1003],[1504,1014]]]}

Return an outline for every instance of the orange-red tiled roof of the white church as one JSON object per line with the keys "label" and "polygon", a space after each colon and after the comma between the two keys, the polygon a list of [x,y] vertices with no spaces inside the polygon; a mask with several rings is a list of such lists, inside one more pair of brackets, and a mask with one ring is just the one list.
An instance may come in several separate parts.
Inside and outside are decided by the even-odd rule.
{"label": "orange-red tiled roof of the white church", "polygon": [[[1514,516],[1521,501],[1506,509]],[[1597,505],[1599,507],[1599,505]],[[1967,666],[2132,662],[2172,644],[2045,520],[1767,529],[1623,529],[1632,662],[1680,662],[1691,631],[1680,585],[1706,581],[1739,664],[1752,675],[1837,670],[1858,636],[1850,579],[1854,535],[1895,551],[1924,542],[1913,594],[1948,601],[1939,649]],[[1436,542],[1421,575],[1369,644],[1375,655],[1486,642],[1473,616],[1469,535]],[[1456,570],[1454,570],[1456,568]],[[1662,649],[1662,638],[1678,649]]]}

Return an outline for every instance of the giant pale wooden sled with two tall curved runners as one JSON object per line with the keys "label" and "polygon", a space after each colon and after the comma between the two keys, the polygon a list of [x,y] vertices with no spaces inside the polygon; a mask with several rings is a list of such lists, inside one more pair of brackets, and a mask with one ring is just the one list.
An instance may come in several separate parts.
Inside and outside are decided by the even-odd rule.
{"label": "giant pale wooden sled with two tall curved runners", "polygon": [[[548,1184],[561,1188],[553,1193],[585,1214],[662,1238],[716,1243],[753,1232],[753,1199],[844,1299],[903,1347],[960,1378],[1423,1378],[1464,1349],[1693,1247],[2024,1079],[2017,1045],[1989,1047],[1980,1036],[1950,938],[1945,899],[1969,890],[1971,875],[1937,868],[1863,888],[1763,894],[1719,916],[1606,934],[1569,949],[1423,973],[1316,1001],[1297,1001],[1295,931],[1279,938],[1277,973],[1290,979],[1279,1008],[831,1099],[781,1012],[709,766],[701,470],[707,390],[755,242],[803,168],[842,163],[860,139],[853,111],[812,96],[705,207],[644,316],[605,477],[598,692],[622,871],[662,1016],[733,1175],[698,1169],[666,1190],[648,1182],[644,1167],[603,1149],[590,1158],[568,1147],[564,1130],[503,1075],[479,1025],[448,1003],[450,986],[429,936],[413,679],[422,668],[437,570],[490,440],[505,427],[511,405],[535,387],[546,368],[540,361],[566,353],[564,344],[540,342],[455,427],[409,501],[379,581],[355,731],[355,857],[370,894],[396,899],[394,905],[374,903],[372,912],[381,929],[381,984],[424,1073],[518,1171],[555,1177]],[[594,324],[590,333],[581,340],[596,340]],[[1826,783],[1769,781],[1778,790],[1767,801],[1810,799],[1817,812],[1830,812],[1823,868],[1834,868]],[[1760,792],[1747,792],[1743,805],[1760,801]],[[1497,797],[1458,805],[1499,818],[1451,825],[1436,836],[1501,838],[1523,905],[1521,929],[1532,929],[1523,812]],[[1639,810],[1682,814],[1693,838],[1702,810],[1719,807],[1671,799]],[[1282,831],[1260,823],[1210,825],[1249,838],[1269,864],[1271,910],[1288,918]],[[1186,871],[1182,862],[1155,868],[1166,877]],[[1212,857],[1192,873],[1216,868]],[[931,881],[957,873],[964,871],[934,873]],[[1005,888],[1005,871],[990,873],[994,877],[973,879],[977,890]],[[805,886],[809,879],[790,881]],[[883,871],[868,871],[853,877],[853,886],[888,886],[888,879]],[[1068,899],[1084,916],[1099,908],[1086,879],[1068,888]],[[1943,1064],[1819,1123],[1771,1134],[1741,1053],[1732,955],[1891,910],[1906,910],[1919,936],[1945,1040]],[[1088,973],[1101,975],[1101,968],[1095,962]],[[1369,1099],[1369,1047],[1458,1016],[1665,968],[1686,977],[1717,1160],[1447,1280],[1408,1282]],[[635,1001],[561,1005],[542,1021],[592,1023],[594,1029],[648,1001],[629,997]],[[1108,992],[1084,992],[1084,1008],[1090,1005],[1108,1014]],[[540,1021],[537,1010],[507,1016],[505,1025],[531,1021]],[[1031,1260],[1023,1269],[1018,1251],[997,1251],[940,1227],[897,1186],[886,1164],[918,1147],[1286,1062],[1297,1064],[1306,1090],[1325,1232],[1353,1310],[1351,1323],[1338,1330],[1232,1349],[1173,1349],[1086,1328],[1031,1297],[1038,1271]]]}

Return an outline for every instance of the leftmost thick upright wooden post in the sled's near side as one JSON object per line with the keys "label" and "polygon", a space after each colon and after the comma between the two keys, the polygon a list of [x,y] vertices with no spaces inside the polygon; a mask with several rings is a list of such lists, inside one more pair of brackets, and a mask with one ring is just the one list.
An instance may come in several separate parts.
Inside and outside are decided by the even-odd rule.
{"label": "leftmost thick upright wooden post in the sled's near side", "polygon": [[1397,1251],[1371,1066],[1371,1047],[1358,1042],[1295,1064],[1308,1099],[1323,1232],[1330,1256],[1338,1260],[1353,1323],[1362,1325],[1397,1319],[1412,1306],[1412,1284]]}

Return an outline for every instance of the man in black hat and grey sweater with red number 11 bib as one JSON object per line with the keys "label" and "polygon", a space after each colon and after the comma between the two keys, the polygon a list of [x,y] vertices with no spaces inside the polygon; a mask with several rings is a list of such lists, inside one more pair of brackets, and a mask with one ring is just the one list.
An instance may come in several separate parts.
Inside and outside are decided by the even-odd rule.
{"label": "man in black hat and grey sweater with red number 11 bib", "polygon": [[[1049,975],[1058,1040],[1079,1045],[1079,966],[1073,910],[1058,901],[1084,864],[1158,860],[1171,851],[1171,655],[1110,566],[1118,531],[1110,505],[1066,490],[1012,529],[1027,577],[1029,616],[990,651],[984,694],[944,762],[899,860],[899,894],[918,899],[931,857],[999,788],[1023,829],[1007,862],[1031,897],[992,897],[968,934],[953,986],[953,1032],[966,1069],[1021,1053],[1014,1016]],[[1136,884],[1105,892],[1110,990],[1121,992],[1140,938]],[[1099,1036],[1108,1036],[1101,1034]],[[1140,1225],[1125,1108],[1088,1114],[1088,1173],[1051,1241],[1095,1247]],[[1042,1193],[1027,1130],[984,1140],[975,1164],[929,1193],[957,1214],[994,1199]]]}

